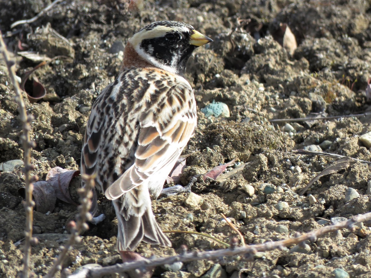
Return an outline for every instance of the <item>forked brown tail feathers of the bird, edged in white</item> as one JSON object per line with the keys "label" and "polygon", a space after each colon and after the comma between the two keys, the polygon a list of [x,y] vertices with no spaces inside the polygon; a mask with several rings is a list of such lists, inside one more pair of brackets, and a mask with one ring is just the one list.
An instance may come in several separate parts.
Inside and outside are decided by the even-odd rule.
{"label": "forked brown tail feathers of the bird, edged in white", "polygon": [[171,242],[161,231],[152,213],[151,203],[142,215],[123,215],[120,200],[112,201],[118,220],[117,249],[132,251],[141,241],[161,246],[171,246]]}

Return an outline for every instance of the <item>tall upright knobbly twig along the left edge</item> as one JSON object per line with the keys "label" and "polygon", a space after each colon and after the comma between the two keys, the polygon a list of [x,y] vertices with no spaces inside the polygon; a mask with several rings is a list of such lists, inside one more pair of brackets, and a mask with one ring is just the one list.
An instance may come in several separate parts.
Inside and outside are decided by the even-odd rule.
{"label": "tall upright knobbly twig along the left edge", "polygon": [[24,202],[24,209],[26,211],[26,228],[24,231],[25,241],[24,241],[24,254],[23,254],[23,272],[22,277],[27,278],[29,275],[29,265],[30,265],[30,255],[31,255],[31,241],[32,241],[32,221],[33,221],[33,207],[35,202],[32,201],[32,182],[37,181],[37,176],[30,176],[30,171],[34,169],[31,164],[31,149],[35,147],[35,142],[30,138],[31,126],[30,122],[34,120],[32,115],[27,116],[26,106],[23,102],[22,90],[19,87],[19,83],[16,79],[16,72],[14,70],[14,60],[9,56],[6,49],[6,45],[3,40],[3,34],[0,31],[0,46],[1,52],[3,53],[4,60],[8,69],[10,80],[12,80],[14,92],[16,93],[15,99],[18,105],[18,112],[20,121],[22,123],[22,135],[20,139],[23,144],[23,162],[24,162],[24,189],[26,201]]}

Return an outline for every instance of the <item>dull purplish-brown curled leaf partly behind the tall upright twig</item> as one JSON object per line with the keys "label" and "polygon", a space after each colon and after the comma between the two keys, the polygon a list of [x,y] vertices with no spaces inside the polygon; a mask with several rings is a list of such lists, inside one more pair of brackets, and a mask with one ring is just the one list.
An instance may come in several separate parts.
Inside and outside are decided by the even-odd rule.
{"label": "dull purplish-brown curled leaf partly behind the tall upright twig", "polygon": [[[24,188],[20,188],[18,193],[24,198]],[[49,182],[38,181],[33,183],[33,199],[36,204],[36,211],[46,213],[52,212],[55,208],[55,202],[57,201],[54,188],[50,186]]]}

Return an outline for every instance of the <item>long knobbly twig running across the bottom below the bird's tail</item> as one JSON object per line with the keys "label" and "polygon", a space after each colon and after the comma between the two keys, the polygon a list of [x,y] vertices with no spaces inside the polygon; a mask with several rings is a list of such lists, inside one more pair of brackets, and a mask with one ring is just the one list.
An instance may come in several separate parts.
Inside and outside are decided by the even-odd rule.
{"label": "long knobbly twig running across the bottom below the bird's tail", "polygon": [[303,235],[299,235],[293,238],[283,239],[280,241],[268,241],[263,244],[255,244],[255,245],[247,245],[247,246],[241,246],[236,247],[234,249],[228,248],[228,249],[219,249],[214,251],[204,251],[204,252],[187,252],[185,254],[181,255],[175,255],[171,257],[162,257],[162,258],[153,258],[153,259],[144,259],[143,261],[137,261],[137,262],[128,262],[124,264],[116,264],[109,267],[102,267],[102,268],[86,268],[83,269],[81,272],[77,274],[68,275],[68,278],[98,278],[102,277],[104,275],[112,274],[112,273],[123,273],[131,269],[145,269],[148,267],[154,267],[157,265],[164,265],[164,264],[174,264],[174,262],[189,262],[189,261],[198,261],[200,259],[215,259],[215,258],[222,258],[222,257],[232,257],[236,255],[242,255],[242,254],[250,254],[253,255],[256,252],[265,252],[270,251],[277,248],[283,248],[284,246],[291,246],[291,245],[297,245],[301,242],[305,242],[307,240],[310,240],[312,242],[315,242],[317,238],[320,236],[335,232],[340,229],[354,229],[354,225],[366,222],[371,220],[371,212],[368,212],[366,214],[360,214],[353,216],[351,219],[348,219],[346,221],[342,221],[339,223],[336,223],[334,225],[325,226],[321,229],[317,229],[312,232],[308,232]]}

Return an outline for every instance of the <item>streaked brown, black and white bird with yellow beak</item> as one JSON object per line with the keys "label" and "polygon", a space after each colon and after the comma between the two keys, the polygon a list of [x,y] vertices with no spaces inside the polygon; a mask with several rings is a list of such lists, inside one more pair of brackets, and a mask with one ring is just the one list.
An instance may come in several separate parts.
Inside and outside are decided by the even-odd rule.
{"label": "streaked brown, black and white bird with yellow beak", "polygon": [[160,195],[194,135],[196,100],[185,67],[193,50],[210,42],[178,21],[145,26],[128,40],[120,73],[92,105],[81,173],[95,175],[96,188],[112,200],[118,251],[135,250],[141,241],[171,246],[155,220],[151,196]]}

